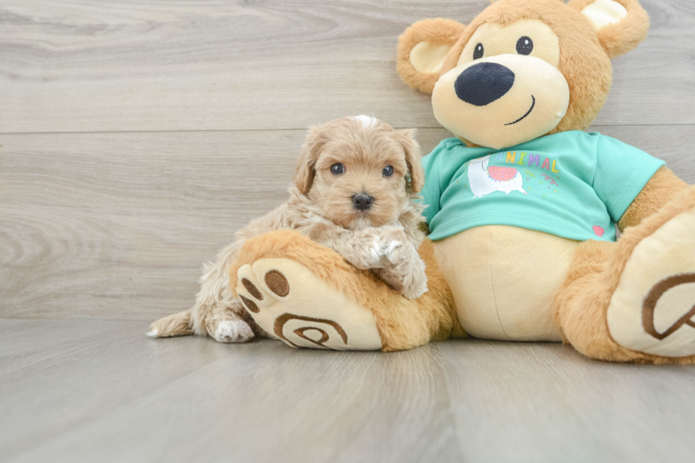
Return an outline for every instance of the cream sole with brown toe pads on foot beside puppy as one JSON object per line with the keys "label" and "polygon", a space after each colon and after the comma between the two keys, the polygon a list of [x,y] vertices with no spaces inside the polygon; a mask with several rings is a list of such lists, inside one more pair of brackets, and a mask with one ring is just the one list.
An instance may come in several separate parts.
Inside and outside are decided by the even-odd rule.
{"label": "cream sole with brown toe pads on foot beside puppy", "polygon": [[[291,347],[382,347],[372,312],[328,286],[304,265],[288,259],[260,259],[241,267],[238,277],[236,291],[250,316]],[[262,299],[253,296],[244,278]]]}

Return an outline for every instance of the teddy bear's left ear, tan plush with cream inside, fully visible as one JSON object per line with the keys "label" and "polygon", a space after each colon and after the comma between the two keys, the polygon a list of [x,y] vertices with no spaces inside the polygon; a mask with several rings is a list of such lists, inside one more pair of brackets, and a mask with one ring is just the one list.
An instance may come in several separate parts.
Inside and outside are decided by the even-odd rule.
{"label": "teddy bear's left ear, tan plush with cream inside, fully visible", "polygon": [[466,28],[451,19],[423,19],[398,39],[396,67],[411,89],[432,93],[444,59]]}

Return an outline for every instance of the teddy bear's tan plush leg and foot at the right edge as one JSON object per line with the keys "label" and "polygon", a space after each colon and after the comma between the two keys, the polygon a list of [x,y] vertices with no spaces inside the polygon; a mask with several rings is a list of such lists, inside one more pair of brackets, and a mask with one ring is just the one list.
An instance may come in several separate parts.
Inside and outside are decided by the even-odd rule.
{"label": "teddy bear's tan plush leg and foot at the right edge", "polygon": [[555,323],[579,352],[611,362],[695,363],[695,186],[618,242],[577,247]]}

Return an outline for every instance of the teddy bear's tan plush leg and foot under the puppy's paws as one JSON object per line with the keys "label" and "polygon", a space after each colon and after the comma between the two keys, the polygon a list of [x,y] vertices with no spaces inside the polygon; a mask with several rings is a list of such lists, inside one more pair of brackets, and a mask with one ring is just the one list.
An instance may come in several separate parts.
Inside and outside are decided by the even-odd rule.
{"label": "teddy bear's tan plush leg and foot under the puppy's paws", "polygon": [[429,291],[416,301],[390,289],[328,247],[294,230],[251,238],[228,269],[245,316],[292,347],[335,350],[412,349],[455,330],[451,292],[432,242],[419,255]]}

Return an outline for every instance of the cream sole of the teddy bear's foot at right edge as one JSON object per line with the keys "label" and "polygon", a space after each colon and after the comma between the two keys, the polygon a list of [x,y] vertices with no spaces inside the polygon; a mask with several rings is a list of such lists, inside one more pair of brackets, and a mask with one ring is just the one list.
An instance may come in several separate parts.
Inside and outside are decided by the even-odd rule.
{"label": "cream sole of the teddy bear's foot at right edge", "polygon": [[695,208],[640,241],[608,306],[623,347],[662,357],[695,355]]}

